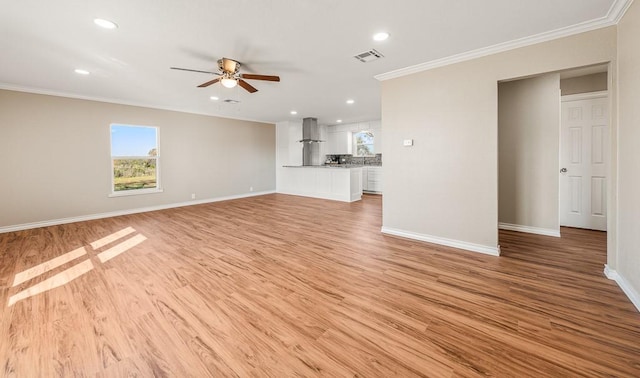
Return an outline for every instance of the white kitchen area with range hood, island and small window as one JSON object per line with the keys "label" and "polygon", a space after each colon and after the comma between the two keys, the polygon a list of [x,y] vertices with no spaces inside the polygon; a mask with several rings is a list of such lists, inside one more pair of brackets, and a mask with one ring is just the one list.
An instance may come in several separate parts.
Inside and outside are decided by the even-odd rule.
{"label": "white kitchen area with range hood, island and small window", "polygon": [[353,202],[382,194],[379,120],[319,125],[315,118],[276,124],[276,191]]}

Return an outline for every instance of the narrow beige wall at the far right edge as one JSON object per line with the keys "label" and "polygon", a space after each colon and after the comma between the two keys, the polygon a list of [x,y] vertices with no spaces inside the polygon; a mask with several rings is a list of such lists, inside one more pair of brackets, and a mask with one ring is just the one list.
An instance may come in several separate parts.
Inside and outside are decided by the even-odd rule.
{"label": "narrow beige wall at the far right edge", "polygon": [[640,3],[618,24],[618,254],[609,258],[640,309]]}

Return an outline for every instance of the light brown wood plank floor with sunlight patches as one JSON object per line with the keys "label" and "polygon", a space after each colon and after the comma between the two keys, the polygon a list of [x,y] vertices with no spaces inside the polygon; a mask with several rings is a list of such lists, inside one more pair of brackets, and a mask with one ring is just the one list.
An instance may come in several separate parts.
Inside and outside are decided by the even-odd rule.
{"label": "light brown wood plank floor with sunlight patches", "polygon": [[640,376],[601,232],[496,258],[267,195],[0,234],[3,376]]}

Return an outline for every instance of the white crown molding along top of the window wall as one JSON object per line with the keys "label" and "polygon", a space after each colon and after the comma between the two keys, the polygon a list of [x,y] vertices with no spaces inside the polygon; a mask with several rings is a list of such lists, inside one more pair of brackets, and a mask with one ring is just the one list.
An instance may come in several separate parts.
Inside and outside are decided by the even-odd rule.
{"label": "white crown molding along top of the window wall", "polygon": [[107,104],[135,106],[135,107],[138,107],[138,108],[168,110],[168,111],[171,111],[171,112],[203,115],[203,116],[207,116],[207,117],[216,117],[216,118],[223,118],[223,119],[233,119],[233,120],[236,120],[236,121],[247,121],[247,122],[258,122],[258,123],[275,124],[275,122],[265,122],[265,121],[260,121],[260,120],[256,120],[256,119],[250,119],[250,118],[221,116],[221,115],[215,115],[215,114],[210,114],[210,113],[205,113],[205,112],[197,112],[197,111],[193,111],[193,110],[185,110],[185,109],[179,109],[179,108],[173,108],[173,107],[157,106],[157,105],[147,104],[147,103],[143,103],[143,102],[124,101],[124,100],[117,100],[117,99],[106,98],[106,97],[85,96],[85,95],[80,95],[80,94],[77,94],[77,93],[69,93],[69,92],[62,92],[62,91],[52,91],[52,90],[48,90],[48,89],[33,88],[33,87],[14,85],[14,84],[7,84],[7,83],[1,83],[1,82],[0,82],[0,90],[32,93],[32,94],[39,94],[39,95],[45,95],[45,96],[64,97],[64,98],[71,98],[71,99],[75,99],[75,100],[103,102],[103,103],[107,103]]}

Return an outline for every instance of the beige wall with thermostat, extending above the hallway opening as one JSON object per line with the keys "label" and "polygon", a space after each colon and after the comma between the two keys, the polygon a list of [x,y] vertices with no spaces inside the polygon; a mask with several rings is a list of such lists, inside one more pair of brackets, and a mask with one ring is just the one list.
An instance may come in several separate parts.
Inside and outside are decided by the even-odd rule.
{"label": "beige wall with thermostat, extending above the hallway opening", "polygon": [[615,59],[609,27],[384,81],[383,230],[495,252],[498,81]]}

